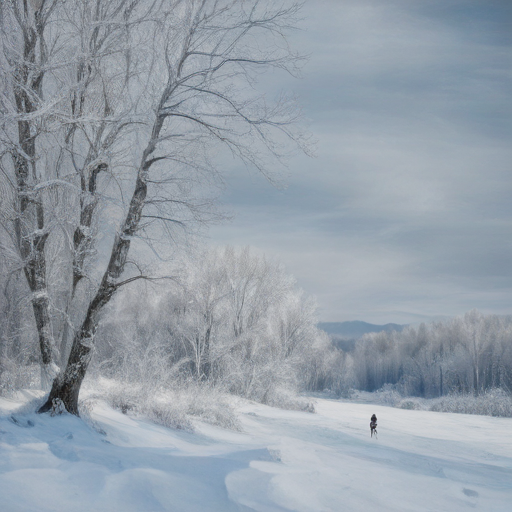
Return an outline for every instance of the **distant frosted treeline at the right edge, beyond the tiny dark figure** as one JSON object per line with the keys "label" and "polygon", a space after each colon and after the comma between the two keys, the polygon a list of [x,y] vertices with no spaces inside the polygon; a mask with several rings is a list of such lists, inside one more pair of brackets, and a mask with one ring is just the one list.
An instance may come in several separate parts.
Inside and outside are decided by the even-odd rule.
{"label": "distant frosted treeline at the right edge, beyond the tiny dark figure", "polygon": [[348,380],[375,391],[393,384],[404,396],[475,395],[512,390],[512,316],[463,317],[364,335],[351,352]]}

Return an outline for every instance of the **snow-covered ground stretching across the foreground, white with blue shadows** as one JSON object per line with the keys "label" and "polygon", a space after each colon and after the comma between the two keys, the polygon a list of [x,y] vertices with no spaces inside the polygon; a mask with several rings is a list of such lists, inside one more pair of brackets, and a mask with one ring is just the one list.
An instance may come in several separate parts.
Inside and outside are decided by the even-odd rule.
{"label": "snow-covered ground stretching across the foreground, white with blue shadows", "polygon": [[319,399],[192,434],[101,402],[96,429],[19,406],[0,399],[2,512],[512,510],[512,419]]}

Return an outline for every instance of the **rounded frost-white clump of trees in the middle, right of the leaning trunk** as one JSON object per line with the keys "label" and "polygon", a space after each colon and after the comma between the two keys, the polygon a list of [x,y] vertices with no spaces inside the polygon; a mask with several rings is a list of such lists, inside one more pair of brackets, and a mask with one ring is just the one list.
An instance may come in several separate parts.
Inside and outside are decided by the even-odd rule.
{"label": "rounded frost-white clump of trees in the middle, right of the leaning trunk", "polygon": [[[329,352],[327,336],[316,327],[315,302],[282,266],[232,247],[192,253],[177,266],[176,280],[139,282],[112,302],[117,314],[96,342],[103,362],[110,358],[109,377],[144,386],[140,367],[151,361],[153,389],[193,381],[276,405],[314,378],[311,361]],[[130,300],[136,296],[152,307],[141,310]],[[341,387],[339,355],[332,366],[341,372],[331,381]],[[101,363],[94,368],[101,374]]]}

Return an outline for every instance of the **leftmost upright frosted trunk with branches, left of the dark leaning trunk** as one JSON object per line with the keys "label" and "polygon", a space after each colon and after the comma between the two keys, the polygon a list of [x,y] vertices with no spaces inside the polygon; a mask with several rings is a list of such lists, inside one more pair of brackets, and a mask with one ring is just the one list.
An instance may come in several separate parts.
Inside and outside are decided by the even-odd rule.
{"label": "leftmost upright frosted trunk with branches, left of the dark leaning trunk", "polygon": [[[46,9],[42,5],[46,3]],[[44,171],[37,155],[43,127],[38,109],[43,98],[43,78],[49,65],[45,37],[57,1],[4,2],[2,22],[2,153],[10,159],[11,173],[4,169],[13,196],[13,241],[32,294],[31,303],[39,334],[42,378],[50,381],[58,368],[53,362],[54,339],[46,282],[45,246],[49,236],[43,198],[37,185]],[[11,29],[7,30],[7,26]],[[2,187],[5,190],[6,187]]]}

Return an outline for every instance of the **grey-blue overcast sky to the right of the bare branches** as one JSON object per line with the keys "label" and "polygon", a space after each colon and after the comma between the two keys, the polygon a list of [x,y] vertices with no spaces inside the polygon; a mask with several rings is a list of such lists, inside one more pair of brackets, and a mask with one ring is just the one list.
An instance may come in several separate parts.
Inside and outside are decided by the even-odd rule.
{"label": "grey-blue overcast sky to the right of the bare branches", "polygon": [[291,41],[317,156],[235,165],[214,243],[278,258],[323,321],[512,313],[512,2],[309,0]]}

